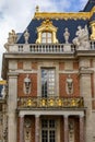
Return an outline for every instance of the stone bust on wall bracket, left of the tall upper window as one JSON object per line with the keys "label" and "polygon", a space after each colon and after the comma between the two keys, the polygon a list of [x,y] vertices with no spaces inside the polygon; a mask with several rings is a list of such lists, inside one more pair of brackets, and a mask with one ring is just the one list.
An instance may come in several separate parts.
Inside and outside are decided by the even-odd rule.
{"label": "stone bust on wall bracket, left of the tall upper window", "polygon": [[29,94],[31,93],[31,79],[29,79],[28,74],[24,79],[24,93],[25,94]]}

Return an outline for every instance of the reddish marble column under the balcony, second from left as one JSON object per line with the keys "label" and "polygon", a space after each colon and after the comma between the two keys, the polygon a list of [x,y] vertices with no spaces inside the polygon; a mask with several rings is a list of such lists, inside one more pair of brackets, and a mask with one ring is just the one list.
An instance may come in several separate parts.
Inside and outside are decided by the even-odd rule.
{"label": "reddish marble column under the balcony, second from left", "polygon": [[35,116],[35,142],[39,142],[39,116]]}

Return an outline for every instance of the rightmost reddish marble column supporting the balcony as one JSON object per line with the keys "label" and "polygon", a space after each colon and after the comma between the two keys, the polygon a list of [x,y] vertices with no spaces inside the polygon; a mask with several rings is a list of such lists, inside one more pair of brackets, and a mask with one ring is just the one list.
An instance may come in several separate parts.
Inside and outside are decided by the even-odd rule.
{"label": "rightmost reddish marble column supporting the balcony", "polygon": [[80,142],[84,142],[84,116],[80,116]]}

